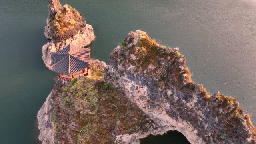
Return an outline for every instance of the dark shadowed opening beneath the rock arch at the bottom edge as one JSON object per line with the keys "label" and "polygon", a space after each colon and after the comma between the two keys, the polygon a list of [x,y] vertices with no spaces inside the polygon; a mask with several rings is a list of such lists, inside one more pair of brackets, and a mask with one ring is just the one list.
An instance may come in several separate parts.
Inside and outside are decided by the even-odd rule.
{"label": "dark shadowed opening beneath the rock arch at the bottom edge", "polygon": [[140,144],[190,144],[186,137],[178,131],[168,131],[163,135],[149,135],[140,139]]}

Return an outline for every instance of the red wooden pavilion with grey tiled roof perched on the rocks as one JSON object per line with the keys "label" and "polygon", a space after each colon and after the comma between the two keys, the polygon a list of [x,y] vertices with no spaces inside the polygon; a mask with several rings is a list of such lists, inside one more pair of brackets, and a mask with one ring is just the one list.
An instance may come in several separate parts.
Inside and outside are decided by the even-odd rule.
{"label": "red wooden pavilion with grey tiled roof perched on the rocks", "polygon": [[52,63],[50,70],[57,72],[62,80],[71,81],[73,78],[88,75],[90,65],[90,48],[80,48],[69,44],[63,50],[51,52]]}

